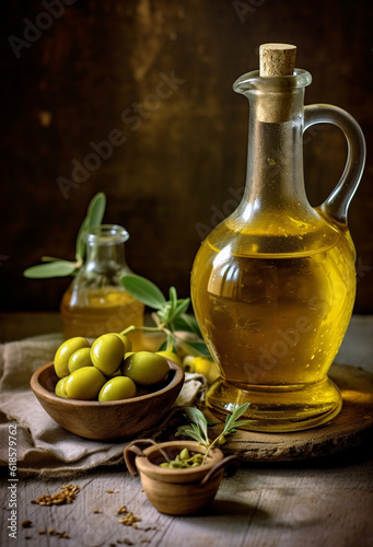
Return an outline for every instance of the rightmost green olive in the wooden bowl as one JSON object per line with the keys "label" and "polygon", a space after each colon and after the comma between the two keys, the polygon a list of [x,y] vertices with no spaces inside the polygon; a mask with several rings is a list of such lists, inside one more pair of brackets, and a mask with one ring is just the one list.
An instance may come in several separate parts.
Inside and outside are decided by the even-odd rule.
{"label": "rightmost green olive in the wooden bowl", "polygon": [[123,373],[139,385],[152,385],[161,382],[168,373],[166,359],[150,351],[137,351],[127,357]]}

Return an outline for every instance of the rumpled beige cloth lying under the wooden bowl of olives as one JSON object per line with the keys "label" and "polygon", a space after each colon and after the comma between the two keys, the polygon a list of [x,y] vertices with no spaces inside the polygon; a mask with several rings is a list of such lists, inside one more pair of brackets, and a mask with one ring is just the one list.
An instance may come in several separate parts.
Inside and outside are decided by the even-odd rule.
{"label": "rumpled beige cloth lying under the wooden bowl of olives", "polygon": [[[62,336],[53,334],[0,345],[0,465],[9,464],[8,439],[11,426],[16,424],[16,465],[23,475],[62,477],[123,459],[127,442],[90,441],[66,431],[32,392],[33,372],[53,361],[61,342]],[[191,405],[202,399],[205,392],[205,376],[186,374],[176,405]]]}

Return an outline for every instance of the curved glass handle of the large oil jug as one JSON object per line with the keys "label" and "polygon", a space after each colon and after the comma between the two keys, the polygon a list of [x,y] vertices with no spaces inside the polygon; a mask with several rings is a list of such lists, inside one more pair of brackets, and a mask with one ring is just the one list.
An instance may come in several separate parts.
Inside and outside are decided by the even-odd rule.
{"label": "curved glass handle of the large oil jug", "polygon": [[348,152],[343,173],[322,205],[325,214],[340,224],[347,224],[350,201],[359,186],[365,164],[365,140],[357,120],[346,110],[328,104],[313,104],[304,107],[304,131],[314,124],[334,124],[346,137]]}

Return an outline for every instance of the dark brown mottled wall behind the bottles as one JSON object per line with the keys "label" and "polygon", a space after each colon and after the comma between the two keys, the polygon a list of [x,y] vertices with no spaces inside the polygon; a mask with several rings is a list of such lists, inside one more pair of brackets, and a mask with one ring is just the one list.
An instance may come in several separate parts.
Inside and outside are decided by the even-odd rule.
{"label": "dark brown mottled wall behind the bottles", "polygon": [[[22,271],[42,255],[73,259],[78,228],[98,190],[108,200],[105,221],[131,235],[132,269],[164,291],[175,284],[188,295],[202,236],[232,210],[244,185],[248,105],[232,83],[258,67],[263,43],[298,46],[296,66],[314,79],[306,103],[350,112],[369,150],[372,5],[1,0],[2,310],[58,309],[68,280],[26,280]],[[46,7],[53,15],[45,15]],[[109,138],[116,139],[113,150],[94,165],[90,143]],[[346,151],[336,128],[307,136],[305,179],[313,205],[337,183]],[[77,162],[89,165],[74,173],[79,183]],[[372,171],[368,160],[349,216],[358,313],[373,312]],[[63,195],[60,177],[75,187]]]}

